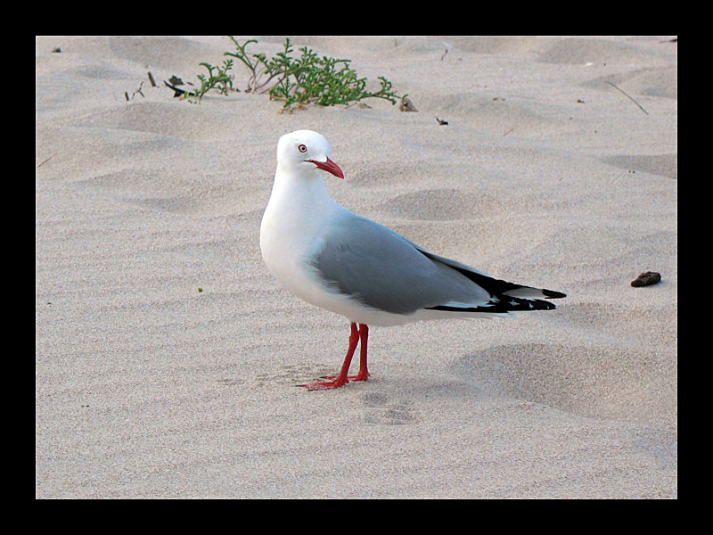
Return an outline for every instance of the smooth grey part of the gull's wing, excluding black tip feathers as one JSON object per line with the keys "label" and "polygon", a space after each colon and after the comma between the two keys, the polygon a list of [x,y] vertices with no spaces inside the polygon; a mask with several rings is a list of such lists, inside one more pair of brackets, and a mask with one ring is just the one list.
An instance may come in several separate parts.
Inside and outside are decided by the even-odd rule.
{"label": "smooth grey part of the gull's wing, excluding black tip feathers", "polygon": [[392,314],[491,306],[490,292],[458,269],[353,214],[330,226],[311,263],[334,290]]}

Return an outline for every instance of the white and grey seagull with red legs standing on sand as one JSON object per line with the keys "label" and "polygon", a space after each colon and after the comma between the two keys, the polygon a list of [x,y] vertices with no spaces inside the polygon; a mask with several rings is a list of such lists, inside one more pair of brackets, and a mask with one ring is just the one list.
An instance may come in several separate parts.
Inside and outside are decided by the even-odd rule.
{"label": "white and grey seagull with red legs standing on sand", "polygon": [[[405,325],[448,317],[508,317],[552,310],[564,293],[509,283],[426,251],[332,200],[320,171],[344,178],[332,147],[311,130],[280,137],[270,200],[260,225],[267,270],[308,303],[347,318],[347,356],[338,375],[299,384],[308,391],[369,379],[368,325]],[[349,366],[359,350],[359,372]]]}

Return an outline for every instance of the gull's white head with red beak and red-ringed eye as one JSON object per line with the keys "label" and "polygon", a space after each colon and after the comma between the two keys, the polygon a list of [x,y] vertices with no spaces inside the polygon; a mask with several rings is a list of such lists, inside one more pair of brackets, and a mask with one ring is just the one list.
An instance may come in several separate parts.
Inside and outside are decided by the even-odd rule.
{"label": "gull's white head with red beak and red-ringed eye", "polygon": [[277,166],[286,172],[323,169],[335,177],[344,178],[339,166],[329,159],[332,147],[312,130],[295,130],[277,143]]}

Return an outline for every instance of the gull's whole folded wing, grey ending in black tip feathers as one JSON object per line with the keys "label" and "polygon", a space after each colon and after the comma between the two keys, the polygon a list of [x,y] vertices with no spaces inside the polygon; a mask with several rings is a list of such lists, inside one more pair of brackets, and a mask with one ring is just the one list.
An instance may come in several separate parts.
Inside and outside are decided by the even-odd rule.
{"label": "gull's whole folded wing, grey ending in black tip feathers", "polygon": [[504,314],[554,309],[542,298],[565,297],[487,276],[346,210],[333,223],[311,264],[333,291],[373,309],[401,315],[420,309]]}

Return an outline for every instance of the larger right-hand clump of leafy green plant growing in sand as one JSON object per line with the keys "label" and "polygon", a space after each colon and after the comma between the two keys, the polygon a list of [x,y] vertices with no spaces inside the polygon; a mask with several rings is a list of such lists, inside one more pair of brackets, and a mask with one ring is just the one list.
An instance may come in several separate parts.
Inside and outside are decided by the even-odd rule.
{"label": "larger right-hand clump of leafy green plant growing in sand", "polygon": [[293,104],[332,106],[348,104],[365,98],[381,98],[395,104],[399,97],[388,79],[380,76],[378,91],[366,91],[366,78],[358,78],[351,69],[351,60],[338,60],[327,56],[319,57],[307,46],[299,48],[300,57],[293,57],[290,39],[286,39],[284,49],[275,57],[267,59],[265,53],[249,54],[246,48],[255,39],[240,44],[230,36],[236,51],[224,55],[240,60],[248,70],[247,93],[269,93],[270,98],[283,101],[283,108]]}

